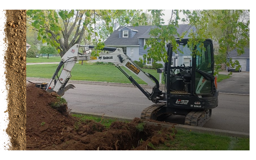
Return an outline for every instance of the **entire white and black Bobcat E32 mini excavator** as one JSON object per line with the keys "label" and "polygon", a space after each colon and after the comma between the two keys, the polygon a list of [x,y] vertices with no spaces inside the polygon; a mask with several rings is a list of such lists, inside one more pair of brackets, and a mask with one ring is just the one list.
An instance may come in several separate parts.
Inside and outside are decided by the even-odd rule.
{"label": "entire white and black Bobcat E32 mini excavator", "polygon": [[[176,41],[186,48],[188,38]],[[48,92],[57,92],[62,96],[68,89],[75,88],[74,85],[67,85],[67,83],[71,78],[71,70],[78,60],[111,62],[133,85],[139,88],[148,100],[156,103],[142,111],[141,119],[159,120],[170,115],[183,115],[186,116],[186,125],[203,126],[211,118],[212,108],[218,106],[219,92],[217,78],[213,76],[213,45],[210,39],[204,41],[205,51],[200,50],[199,47],[195,48],[202,55],[192,56],[192,64],[190,62],[189,66],[183,64],[183,66],[172,67],[172,45],[167,45],[168,62],[164,64],[164,91],[159,89],[158,80],[144,72],[124,54],[121,48],[104,47],[103,50],[109,53],[92,57],[90,54],[79,53],[79,47],[94,48],[94,46],[80,44],[72,46],[61,58],[50,83],[44,89]],[[151,86],[152,92],[149,93],[142,88],[121,66]],[[52,83],[54,86],[50,88]]]}

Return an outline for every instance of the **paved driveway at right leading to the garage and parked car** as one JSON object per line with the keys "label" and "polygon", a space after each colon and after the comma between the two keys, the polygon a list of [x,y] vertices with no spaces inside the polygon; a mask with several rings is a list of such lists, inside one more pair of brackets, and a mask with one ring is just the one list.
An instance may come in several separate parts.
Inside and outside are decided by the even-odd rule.
{"label": "paved driveway at right leading to the garage and parked car", "polygon": [[[228,75],[228,71],[219,74]],[[232,72],[231,78],[218,83],[218,90],[222,93],[250,94],[250,72]]]}

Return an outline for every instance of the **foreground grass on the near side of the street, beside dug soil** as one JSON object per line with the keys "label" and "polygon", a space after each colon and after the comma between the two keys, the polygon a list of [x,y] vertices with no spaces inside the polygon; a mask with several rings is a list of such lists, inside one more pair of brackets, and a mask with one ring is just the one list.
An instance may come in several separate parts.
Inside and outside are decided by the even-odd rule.
{"label": "foreground grass on the near side of the street, beside dug soil", "polygon": [[[94,120],[100,122],[101,118],[96,116],[72,115],[85,120]],[[107,128],[116,119],[103,119],[101,124]],[[127,122],[128,123],[128,122]],[[238,138],[229,136],[220,136],[209,133],[189,132],[178,130],[174,140],[167,140],[160,146],[149,144],[155,150],[250,150],[250,138]]]}

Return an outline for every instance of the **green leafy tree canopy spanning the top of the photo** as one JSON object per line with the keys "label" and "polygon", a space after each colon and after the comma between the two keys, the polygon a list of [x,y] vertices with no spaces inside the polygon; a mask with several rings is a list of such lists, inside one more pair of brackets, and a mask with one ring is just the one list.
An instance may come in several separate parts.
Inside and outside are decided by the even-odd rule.
{"label": "green leafy tree canopy spanning the top of the photo", "polygon": [[[28,10],[28,23],[37,31],[37,40],[54,46],[61,57],[74,44],[94,44],[92,55],[104,47],[103,41],[112,32],[114,22],[120,26],[154,25],[151,37],[145,45],[151,46],[148,57],[156,61],[168,61],[165,50],[166,42],[171,43],[176,52],[177,44],[174,35],[180,38],[187,34],[191,39],[188,46],[192,55],[200,52],[193,50],[206,38],[219,43],[219,52],[223,56],[234,49],[238,54],[250,44],[250,10],[172,10],[168,25],[163,25],[164,10]],[[180,13],[184,14],[183,22],[196,29],[189,33],[177,33]],[[204,49],[203,45],[200,45]],[[227,61],[226,61],[227,62]],[[232,62],[227,62],[228,65]]]}

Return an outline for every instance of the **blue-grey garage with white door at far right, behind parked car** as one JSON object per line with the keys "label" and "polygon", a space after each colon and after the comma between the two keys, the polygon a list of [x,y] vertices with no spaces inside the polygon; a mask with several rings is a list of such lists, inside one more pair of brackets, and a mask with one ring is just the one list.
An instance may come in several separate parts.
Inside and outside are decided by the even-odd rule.
{"label": "blue-grey garage with white door at far right, behind parked car", "polygon": [[230,57],[232,61],[238,60],[242,71],[250,71],[250,48],[244,48],[244,54],[241,55],[237,55],[237,51],[233,50],[228,53],[228,57]]}

